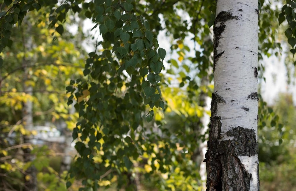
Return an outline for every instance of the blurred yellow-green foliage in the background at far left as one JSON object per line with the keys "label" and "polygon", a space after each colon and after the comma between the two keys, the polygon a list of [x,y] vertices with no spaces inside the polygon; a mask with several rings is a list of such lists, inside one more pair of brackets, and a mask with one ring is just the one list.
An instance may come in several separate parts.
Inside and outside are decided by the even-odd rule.
{"label": "blurred yellow-green foliage in the background at far left", "polygon": [[[43,11],[46,12],[46,9]],[[75,75],[82,75],[83,51],[77,50],[73,43],[61,40],[52,42],[48,30],[48,14],[32,11],[28,13],[30,19],[23,22],[21,28],[13,27],[11,40],[13,44],[1,53],[6,63],[1,67],[0,84],[0,187],[4,189],[22,190],[26,187],[24,179],[29,180],[30,174],[26,169],[30,166],[38,170],[37,179],[40,189],[66,190],[65,175],[59,175],[58,170],[49,166],[49,157],[56,155],[47,147],[39,147],[23,143],[22,137],[36,136],[37,130],[25,129],[22,117],[23,103],[33,102],[33,119],[35,125],[44,125],[44,122],[58,124],[66,120],[74,123],[77,116],[68,114],[66,83]],[[38,18],[38,20],[34,18]],[[30,36],[34,34],[34,38]],[[65,34],[65,37],[70,34]],[[30,41],[32,48],[24,46]],[[66,38],[66,40],[69,38]],[[29,71],[24,79],[24,70]],[[33,87],[33,94],[24,91],[23,85]],[[71,119],[72,118],[72,119]],[[71,127],[71,126],[70,126]],[[30,148],[35,156],[28,163],[22,159],[22,149]]]}

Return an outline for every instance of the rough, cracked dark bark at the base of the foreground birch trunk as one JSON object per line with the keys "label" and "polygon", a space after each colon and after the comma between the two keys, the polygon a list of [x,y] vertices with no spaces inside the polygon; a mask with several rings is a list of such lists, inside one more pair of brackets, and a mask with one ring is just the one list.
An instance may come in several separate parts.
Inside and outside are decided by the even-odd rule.
{"label": "rough, cracked dark bark at the base of the foreground birch trunk", "polygon": [[[250,190],[252,175],[248,173],[238,156],[254,156],[258,152],[255,131],[235,127],[226,135],[232,140],[217,140],[221,129],[221,117],[211,119],[210,137],[206,153],[207,190]],[[223,183],[222,183],[223,182]]]}

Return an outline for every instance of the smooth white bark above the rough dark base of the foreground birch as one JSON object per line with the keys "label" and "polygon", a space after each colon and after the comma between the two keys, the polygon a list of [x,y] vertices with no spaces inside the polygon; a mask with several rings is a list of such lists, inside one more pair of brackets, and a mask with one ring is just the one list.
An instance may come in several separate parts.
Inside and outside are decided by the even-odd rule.
{"label": "smooth white bark above the rough dark base of the foreground birch", "polygon": [[258,1],[254,0],[217,3],[217,14],[227,11],[238,16],[238,20],[225,22],[217,47],[218,53],[224,51],[215,66],[214,77],[214,92],[226,101],[217,109],[217,116],[222,117],[223,139],[228,139],[225,132],[237,126],[254,129],[257,135],[258,102],[247,99],[251,93],[257,93],[254,70],[258,65],[258,14],[255,9],[258,10]]}

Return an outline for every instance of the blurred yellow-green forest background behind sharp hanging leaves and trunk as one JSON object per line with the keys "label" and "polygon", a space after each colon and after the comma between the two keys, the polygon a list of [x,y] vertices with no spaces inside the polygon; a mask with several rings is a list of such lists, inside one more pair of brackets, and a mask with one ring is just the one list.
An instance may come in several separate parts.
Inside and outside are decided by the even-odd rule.
{"label": "blurred yellow-green forest background behind sharp hanging leaves and trunk", "polygon": [[[152,106],[154,110],[151,110],[151,105],[144,107],[146,113],[133,120],[144,116],[143,119],[152,122],[142,121],[143,128],[135,135],[123,128],[120,135],[125,136],[105,140],[98,136],[111,132],[104,129],[96,132],[98,141],[94,145],[96,155],[93,159],[103,169],[98,182],[85,178],[81,172],[88,164],[72,161],[79,162],[77,151],[84,152],[83,145],[76,144],[83,140],[83,132],[77,132],[77,136],[72,134],[77,131],[78,118],[83,115],[75,111],[74,105],[86,101],[91,90],[85,89],[75,95],[74,102],[74,96],[70,96],[71,92],[75,93],[79,79],[91,82],[91,72],[96,70],[88,69],[92,64],[90,59],[94,54],[104,54],[106,47],[110,47],[100,34],[107,32],[104,31],[111,27],[112,20],[109,26],[105,25],[106,29],[104,25],[96,25],[93,1],[71,4],[71,9],[62,6],[66,1],[48,7],[43,6],[45,1],[25,1],[28,6],[20,10],[29,10],[26,16],[17,10],[18,2],[2,1],[0,12],[2,26],[5,22],[17,22],[11,25],[10,38],[5,38],[5,31],[1,31],[1,47],[4,44],[7,47],[0,55],[0,190],[29,190],[28,185],[32,186],[34,182],[39,190],[66,190],[66,187],[79,190],[79,187],[94,184],[102,190],[115,190],[116,187],[123,190],[204,190],[201,165],[213,91],[214,1],[127,1],[124,8],[133,9],[136,15],[147,20],[152,36],[158,36],[158,44],[166,52],[165,58],[161,51],[158,52],[164,69],[159,78],[154,77],[162,92],[158,103],[162,109]],[[266,81],[271,77],[265,71],[270,68],[281,64],[286,68],[284,75],[287,76],[285,82],[276,78],[283,74],[272,76],[275,82],[287,84],[286,92],[278,94],[268,104],[260,96],[260,187],[261,190],[293,191],[296,187],[293,181],[296,179],[296,111],[295,95],[288,92],[294,87],[296,63],[295,52],[289,47],[294,47],[296,41],[295,30],[289,28],[295,22],[296,5],[294,1],[259,1],[259,6],[260,90],[265,89],[269,94],[275,92],[266,88]],[[17,17],[8,17],[9,10],[17,13]],[[282,12],[291,14],[293,22],[285,17],[278,19]],[[129,26],[139,27],[133,21]],[[129,40],[120,38],[123,42]],[[153,40],[153,43],[157,41]],[[268,64],[268,57],[273,57],[275,63]],[[121,86],[115,87],[111,81],[106,81],[110,90],[116,89],[123,95],[123,102],[126,92],[132,94],[128,86],[133,83],[130,77],[133,71],[128,67],[124,69],[126,77]],[[144,71],[143,74],[145,76]],[[123,118],[129,116],[128,112],[123,114]],[[133,144],[130,137],[134,139],[133,136],[140,135],[143,141]],[[85,137],[86,143],[92,138]],[[135,139],[139,140],[139,137]],[[111,141],[110,153],[115,150],[116,153],[132,153],[135,148],[141,148],[142,152],[132,153],[130,157],[110,155],[105,158],[102,145],[108,141]],[[75,176],[67,174],[70,166],[70,172]]]}

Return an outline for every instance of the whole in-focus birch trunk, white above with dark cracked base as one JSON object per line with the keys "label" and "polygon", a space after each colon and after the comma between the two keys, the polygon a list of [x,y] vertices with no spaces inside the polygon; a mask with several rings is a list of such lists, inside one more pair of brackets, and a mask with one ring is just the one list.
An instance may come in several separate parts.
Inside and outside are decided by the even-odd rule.
{"label": "whole in-focus birch trunk, white above with dark cracked base", "polygon": [[218,0],[207,191],[258,191],[258,0]]}

